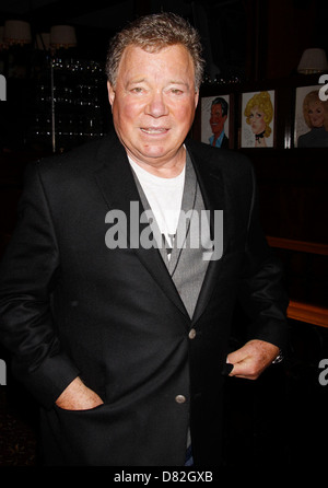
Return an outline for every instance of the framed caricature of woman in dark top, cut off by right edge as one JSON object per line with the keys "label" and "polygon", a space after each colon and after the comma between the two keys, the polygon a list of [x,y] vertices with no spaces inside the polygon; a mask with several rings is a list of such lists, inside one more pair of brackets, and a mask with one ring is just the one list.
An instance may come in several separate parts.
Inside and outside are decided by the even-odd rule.
{"label": "framed caricature of woman in dark top, cut off by right edge", "polygon": [[319,98],[321,85],[296,88],[294,147],[328,148],[328,101]]}

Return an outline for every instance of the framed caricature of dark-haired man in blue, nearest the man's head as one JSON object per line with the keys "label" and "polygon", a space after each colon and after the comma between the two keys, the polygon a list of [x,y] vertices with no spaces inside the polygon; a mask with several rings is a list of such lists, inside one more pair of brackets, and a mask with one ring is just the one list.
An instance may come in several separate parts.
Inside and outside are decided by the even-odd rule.
{"label": "framed caricature of dark-haired man in blue, nearest the man's head", "polygon": [[201,141],[216,148],[231,148],[230,95],[201,98]]}

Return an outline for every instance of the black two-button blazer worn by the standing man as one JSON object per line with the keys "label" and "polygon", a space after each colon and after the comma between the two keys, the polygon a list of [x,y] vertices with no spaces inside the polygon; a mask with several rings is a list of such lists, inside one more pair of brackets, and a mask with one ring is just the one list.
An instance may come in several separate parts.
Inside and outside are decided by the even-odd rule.
{"label": "black two-button blazer worn by the standing man", "polygon": [[[285,345],[288,302],[259,226],[251,165],[186,146],[206,207],[224,219],[223,256],[209,264],[191,321],[157,249],[105,245],[108,210],[129,218],[139,201],[142,211],[116,136],[27,171],[1,265],[1,340],[42,404],[47,464],[184,465],[189,425],[196,464],[216,464],[236,301],[251,317],[249,338]],[[104,405],[55,405],[78,374]]]}

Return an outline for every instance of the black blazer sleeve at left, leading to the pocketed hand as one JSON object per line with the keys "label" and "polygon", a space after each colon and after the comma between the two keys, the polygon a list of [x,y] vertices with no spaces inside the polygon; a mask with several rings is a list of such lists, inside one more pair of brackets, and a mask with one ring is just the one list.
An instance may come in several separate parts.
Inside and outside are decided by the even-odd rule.
{"label": "black blazer sleeve at left, leading to the pocketed hand", "polygon": [[0,340],[11,352],[14,376],[50,408],[79,371],[61,350],[51,318],[60,262],[39,165],[26,171],[17,224],[0,266]]}

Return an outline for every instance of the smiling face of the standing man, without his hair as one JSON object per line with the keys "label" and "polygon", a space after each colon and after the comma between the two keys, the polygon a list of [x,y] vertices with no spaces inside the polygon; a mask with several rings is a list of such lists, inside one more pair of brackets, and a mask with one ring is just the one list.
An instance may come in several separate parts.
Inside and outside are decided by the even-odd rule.
{"label": "smiling face of the standing man, without his hair", "polygon": [[198,102],[192,58],[174,45],[159,53],[128,46],[116,86],[108,83],[115,129],[137,162],[174,161],[191,127]]}

